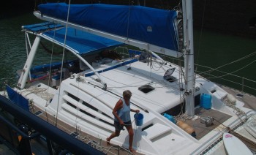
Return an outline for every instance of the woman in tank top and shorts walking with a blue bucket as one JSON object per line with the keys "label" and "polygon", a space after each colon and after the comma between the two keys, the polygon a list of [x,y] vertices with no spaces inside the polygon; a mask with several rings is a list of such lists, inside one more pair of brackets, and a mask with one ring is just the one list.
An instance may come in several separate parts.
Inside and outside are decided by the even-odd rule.
{"label": "woman in tank top and shorts walking with a blue bucket", "polygon": [[140,110],[133,110],[130,108],[129,99],[132,97],[131,91],[127,90],[123,92],[123,98],[119,99],[116,102],[116,106],[113,109],[113,115],[115,116],[114,126],[116,131],[113,132],[110,137],[107,138],[108,145],[110,144],[110,140],[113,137],[118,137],[120,135],[121,129],[123,126],[127,128],[129,133],[129,151],[132,153],[136,153],[136,151],[132,148],[132,141],[133,141],[133,129],[132,129],[132,121],[130,118],[130,112],[139,113]]}

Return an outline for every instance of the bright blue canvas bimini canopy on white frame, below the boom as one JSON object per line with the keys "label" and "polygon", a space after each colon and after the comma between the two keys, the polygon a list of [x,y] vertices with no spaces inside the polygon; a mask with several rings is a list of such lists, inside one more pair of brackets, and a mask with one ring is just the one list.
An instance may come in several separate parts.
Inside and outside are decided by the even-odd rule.
{"label": "bright blue canvas bimini canopy on white frame, below the boom", "polygon": [[66,42],[64,42],[66,27],[49,22],[23,26],[23,30],[39,34],[50,42],[61,45],[68,50],[73,50],[75,53],[80,55],[123,44],[112,39],[99,37],[97,35],[72,28],[67,28]]}

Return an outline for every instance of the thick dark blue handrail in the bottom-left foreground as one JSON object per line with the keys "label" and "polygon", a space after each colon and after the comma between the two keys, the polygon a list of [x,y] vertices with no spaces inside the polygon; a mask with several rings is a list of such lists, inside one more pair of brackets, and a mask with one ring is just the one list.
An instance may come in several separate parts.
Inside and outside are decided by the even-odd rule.
{"label": "thick dark blue handrail in the bottom-left foreground", "polygon": [[30,126],[42,135],[45,135],[45,137],[48,137],[48,139],[53,140],[55,143],[58,143],[64,148],[67,148],[67,150],[73,154],[103,154],[96,148],[91,147],[91,145],[83,143],[56,126],[42,120],[42,118],[23,110],[23,108],[15,105],[12,101],[1,95],[0,107],[2,110],[6,110],[15,118],[22,120],[24,124]]}

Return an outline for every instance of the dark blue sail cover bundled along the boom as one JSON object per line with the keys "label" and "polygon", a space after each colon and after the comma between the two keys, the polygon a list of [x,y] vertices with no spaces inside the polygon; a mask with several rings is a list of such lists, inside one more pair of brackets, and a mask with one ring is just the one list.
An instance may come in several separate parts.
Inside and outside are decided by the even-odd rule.
{"label": "dark blue sail cover bundled along the boom", "polygon": [[[68,7],[65,3],[38,6],[42,15],[61,20],[67,20]],[[176,16],[176,11],[141,6],[71,4],[69,9],[71,23],[177,51]]]}

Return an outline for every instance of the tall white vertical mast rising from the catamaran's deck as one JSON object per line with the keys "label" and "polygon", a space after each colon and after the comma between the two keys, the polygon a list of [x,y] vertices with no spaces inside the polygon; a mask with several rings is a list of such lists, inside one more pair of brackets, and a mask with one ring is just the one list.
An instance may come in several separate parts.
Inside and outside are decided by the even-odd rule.
{"label": "tall white vertical mast rising from the catamaran's deck", "polygon": [[192,0],[182,0],[184,23],[184,68],[186,77],[186,114],[195,115],[195,73],[194,73],[194,41],[193,41],[193,15]]}

